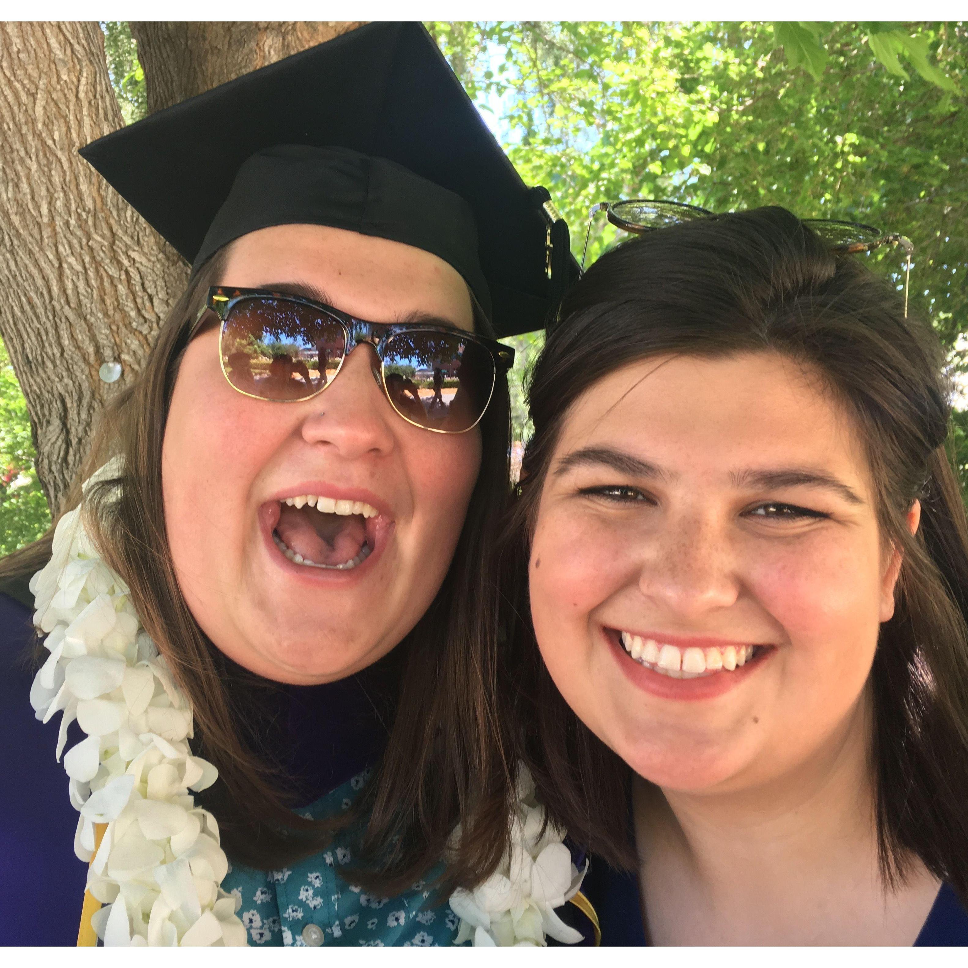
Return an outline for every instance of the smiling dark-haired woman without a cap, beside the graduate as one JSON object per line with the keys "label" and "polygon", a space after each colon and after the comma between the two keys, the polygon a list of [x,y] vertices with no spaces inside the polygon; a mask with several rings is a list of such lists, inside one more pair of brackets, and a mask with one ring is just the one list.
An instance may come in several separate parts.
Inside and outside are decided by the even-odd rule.
{"label": "smiling dark-haired woman without a cap, beside the graduate", "polygon": [[602,943],[968,943],[968,529],[936,337],[778,208],[626,243],[560,318],[506,662]]}

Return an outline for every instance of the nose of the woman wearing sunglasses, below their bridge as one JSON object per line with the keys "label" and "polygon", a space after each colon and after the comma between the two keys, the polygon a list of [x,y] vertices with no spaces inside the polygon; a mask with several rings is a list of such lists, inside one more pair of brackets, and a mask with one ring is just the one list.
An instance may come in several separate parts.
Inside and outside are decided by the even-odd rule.
{"label": "nose of the woman wearing sunglasses, below their bridge", "polygon": [[392,421],[400,418],[383,394],[379,357],[369,343],[353,348],[336,378],[306,406],[307,443],[335,447],[348,460],[393,449]]}

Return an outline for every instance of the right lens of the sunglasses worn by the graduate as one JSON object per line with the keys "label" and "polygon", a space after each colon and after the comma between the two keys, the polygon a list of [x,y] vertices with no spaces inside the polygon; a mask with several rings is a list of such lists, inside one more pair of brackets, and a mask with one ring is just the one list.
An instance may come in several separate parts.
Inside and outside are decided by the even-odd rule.
{"label": "right lens of the sunglasses worn by the graduate", "polygon": [[487,409],[494,390],[494,358],[457,335],[398,333],[383,352],[383,380],[393,408],[410,423],[460,434]]}

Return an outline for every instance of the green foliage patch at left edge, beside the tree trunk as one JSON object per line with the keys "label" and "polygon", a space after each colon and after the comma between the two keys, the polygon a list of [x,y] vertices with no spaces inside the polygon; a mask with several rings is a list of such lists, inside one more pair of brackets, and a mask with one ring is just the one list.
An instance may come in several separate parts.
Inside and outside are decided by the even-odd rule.
{"label": "green foliage patch at left edge, beside the tree trunk", "polygon": [[50,527],[34,457],[27,405],[0,342],[0,558]]}

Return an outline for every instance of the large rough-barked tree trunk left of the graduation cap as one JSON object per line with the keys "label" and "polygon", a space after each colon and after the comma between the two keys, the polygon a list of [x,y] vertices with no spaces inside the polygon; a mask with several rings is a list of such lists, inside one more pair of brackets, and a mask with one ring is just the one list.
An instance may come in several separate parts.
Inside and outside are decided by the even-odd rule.
{"label": "large rough-barked tree trunk left of the graduation cap", "polygon": [[[77,154],[123,124],[98,24],[3,23],[0,53],[0,336],[56,514],[187,272]],[[108,361],[122,365],[115,383],[99,377]]]}

